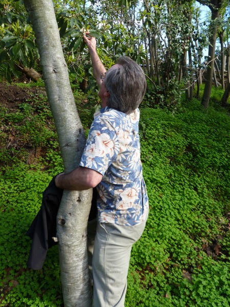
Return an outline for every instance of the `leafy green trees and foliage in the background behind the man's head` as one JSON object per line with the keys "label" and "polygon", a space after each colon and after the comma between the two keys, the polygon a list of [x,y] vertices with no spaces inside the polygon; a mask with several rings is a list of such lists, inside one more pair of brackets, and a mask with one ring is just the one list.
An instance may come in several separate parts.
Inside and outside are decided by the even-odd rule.
{"label": "leafy green trees and foliage in the background behind the man's head", "polygon": [[[198,1],[215,7],[215,1]],[[229,44],[229,3],[224,6],[221,24],[225,48]],[[68,69],[78,82],[87,80],[90,100],[97,101],[97,87],[82,34],[98,38],[98,52],[107,68],[120,55],[140,63],[148,80],[150,104],[176,107],[181,94],[190,89],[194,75],[205,68],[203,49],[209,44],[210,21],[200,22],[195,1],[60,1],[54,0],[57,23]],[[118,9],[119,7],[119,9]],[[0,0],[0,67],[10,81],[23,64],[39,70],[34,32],[22,0]],[[212,23],[219,23],[214,20]],[[188,54],[190,58],[188,58]],[[95,97],[95,98],[94,98]]]}

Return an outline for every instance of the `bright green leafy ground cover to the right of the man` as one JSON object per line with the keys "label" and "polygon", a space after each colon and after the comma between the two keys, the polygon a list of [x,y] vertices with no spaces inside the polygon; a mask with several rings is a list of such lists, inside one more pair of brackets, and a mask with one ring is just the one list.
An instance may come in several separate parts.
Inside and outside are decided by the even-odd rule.
{"label": "bright green leafy ground cover to the right of the man", "polygon": [[229,116],[196,100],[175,116],[141,114],[151,209],[126,306],[229,306]]}

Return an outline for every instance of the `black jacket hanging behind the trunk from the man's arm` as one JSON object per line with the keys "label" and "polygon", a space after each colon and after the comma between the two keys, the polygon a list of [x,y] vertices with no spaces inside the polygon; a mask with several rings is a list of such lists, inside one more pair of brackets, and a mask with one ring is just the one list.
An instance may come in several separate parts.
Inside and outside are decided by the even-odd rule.
{"label": "black jacket hanging behind the trunk from the man's arm", "polygon": [[[33,270],[42,269],[48,249],[57,244],[52,237],[56,237],[56,217],[63,190],[56,187],[54,180],[55,177],[44,190],[40,210],[26,233],[32,239],[27,266]],[[88,220],[94,220],[96,216],[97,190],[94,188]]]}

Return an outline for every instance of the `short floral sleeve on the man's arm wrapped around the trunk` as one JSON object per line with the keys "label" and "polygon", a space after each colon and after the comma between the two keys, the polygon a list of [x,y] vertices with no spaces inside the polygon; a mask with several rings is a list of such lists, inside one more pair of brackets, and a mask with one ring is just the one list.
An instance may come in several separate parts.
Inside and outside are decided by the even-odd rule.
{"label": "short floral sleeve on the man's arm wrapped around the trunk", "polygon": [[80,166],[94,169],[103,176],[120,150],[117,129],[103,114],[96,117],[89,130]]}

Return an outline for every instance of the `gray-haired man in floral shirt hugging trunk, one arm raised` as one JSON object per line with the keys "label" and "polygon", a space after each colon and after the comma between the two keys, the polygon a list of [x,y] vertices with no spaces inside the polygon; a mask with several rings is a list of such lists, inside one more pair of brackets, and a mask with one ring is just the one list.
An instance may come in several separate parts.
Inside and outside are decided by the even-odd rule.
{"label": "gray-haired man in floral shirt hugging trunk, one arm raised", "polygon": [[93,254],[94,307],[123,307],[132,245],[145,228],[148,196],[142,175],[139,109],[146,79],[141,67],[121,57],[107,72],[96,39],[83,36],[100,87],[102,109],[91,125],[80,166],[59,174],[70,190],[97,186],[97,233]]}

